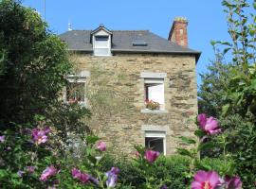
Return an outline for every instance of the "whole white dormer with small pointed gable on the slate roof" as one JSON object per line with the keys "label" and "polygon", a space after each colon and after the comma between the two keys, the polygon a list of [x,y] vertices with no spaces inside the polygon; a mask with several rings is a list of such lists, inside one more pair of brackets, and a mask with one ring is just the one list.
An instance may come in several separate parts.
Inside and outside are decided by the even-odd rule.
{"label": "whole white dormer with small pointed gable on the slate roof", "polygon": [[112,32],[99,26],[91,32],[94,56],[111,56]]}

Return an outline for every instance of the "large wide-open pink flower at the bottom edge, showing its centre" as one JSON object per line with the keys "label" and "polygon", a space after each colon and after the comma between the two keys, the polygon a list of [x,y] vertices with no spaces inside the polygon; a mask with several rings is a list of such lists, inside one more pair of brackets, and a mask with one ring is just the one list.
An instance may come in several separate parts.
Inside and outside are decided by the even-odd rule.
{"label": "large wide-open pink flower at the bottom edge, showing its centre", "polygon": [[220,176],[214,171],[198,171],[193,177],[192,189],[217,189]]}

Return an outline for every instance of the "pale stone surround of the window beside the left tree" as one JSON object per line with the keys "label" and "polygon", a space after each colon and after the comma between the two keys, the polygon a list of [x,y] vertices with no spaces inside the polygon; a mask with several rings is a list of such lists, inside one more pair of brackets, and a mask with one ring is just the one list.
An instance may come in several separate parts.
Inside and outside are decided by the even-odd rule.
{"label": "pale stone surround of the window beside the left tree", "polygon": [[[84,87],[85,87],[86,77],[90,77],[90,72],[83,70],[83,71],[81,71],[78,74],[67,75],[66,79],[68,80],[68,82],[84,83]],[[66,99],[66,87],[64,87],[64,103],[68,103],[68,101]],[[86,102],[85,101],[84,102],[80,102],[79,104],[81,106],[86,106]]]}

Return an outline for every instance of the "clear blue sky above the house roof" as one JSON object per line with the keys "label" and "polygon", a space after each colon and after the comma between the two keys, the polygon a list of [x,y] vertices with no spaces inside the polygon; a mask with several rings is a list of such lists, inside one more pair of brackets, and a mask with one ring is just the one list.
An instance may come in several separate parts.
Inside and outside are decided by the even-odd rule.
{"label": "clear blue sky above the house roof", "polygon": [[[44,17],[44,0],[23,0],[23,5]],[[70,20],[73,29],[104,24],[109,29],[149,29],[167,38],[176,16],[188,18],[189,46],[202,52],[196,68],[199,85],[199,73],[213,59],[210,41],[229,39],[221,0],[46,0],[46,22],[56,34],[66,31]]]}

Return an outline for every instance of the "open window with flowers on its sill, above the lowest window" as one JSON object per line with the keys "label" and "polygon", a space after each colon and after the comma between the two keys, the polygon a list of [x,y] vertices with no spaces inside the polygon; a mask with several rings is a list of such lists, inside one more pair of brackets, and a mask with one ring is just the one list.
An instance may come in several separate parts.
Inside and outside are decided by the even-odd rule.
{"label": "open window with flowers on its sill, above the lowest window", "polygon": [[147,109],[164,110],[164,79],[144,79],[145,105]]}

